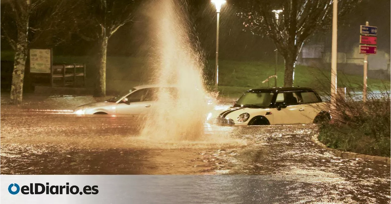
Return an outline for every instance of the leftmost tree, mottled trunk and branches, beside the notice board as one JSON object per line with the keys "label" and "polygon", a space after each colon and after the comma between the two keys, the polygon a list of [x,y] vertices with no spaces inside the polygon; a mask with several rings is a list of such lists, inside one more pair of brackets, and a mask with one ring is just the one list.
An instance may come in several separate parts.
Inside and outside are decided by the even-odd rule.
{"label": "leftmost tree, mottled trunk and branches, beside the notice board", "polygon": [[[61,16],[66,1],[61,0],[3,0],[0,10],[0,37],[8,41],[14,54],[11,85],[11,103],[18,105],[23,99],[23,79],[28,48],[31,43],[62,25]],[[56,25],[56,26],[55,26]],[[63,26],[62,26],[63,27]]]}

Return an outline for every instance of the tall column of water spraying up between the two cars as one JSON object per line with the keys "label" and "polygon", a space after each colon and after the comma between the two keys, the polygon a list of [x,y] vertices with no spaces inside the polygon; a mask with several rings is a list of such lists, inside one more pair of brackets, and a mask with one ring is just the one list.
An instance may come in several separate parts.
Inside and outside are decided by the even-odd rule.
{"label": "tall column of water spraying up between the two cars", "polygon": [[149,117],[142,135],[159,141],[200,140],[208,114],[207,95],[203,86],[203,57],[192,41],[186,16],[186,3],[176,0],[152,0],[155,73],[153,83],[175,85],[158,92],[156,113]]}

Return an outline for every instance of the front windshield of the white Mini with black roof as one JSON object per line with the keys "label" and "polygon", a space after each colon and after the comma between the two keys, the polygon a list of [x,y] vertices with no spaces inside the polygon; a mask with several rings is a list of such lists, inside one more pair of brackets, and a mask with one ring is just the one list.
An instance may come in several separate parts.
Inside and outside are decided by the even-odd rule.
{"label": "front windshield of the white Mini with black roof", "polygon": [[270,106],[273,93],[246,92],[233,105],[244,108],[267,108]]}

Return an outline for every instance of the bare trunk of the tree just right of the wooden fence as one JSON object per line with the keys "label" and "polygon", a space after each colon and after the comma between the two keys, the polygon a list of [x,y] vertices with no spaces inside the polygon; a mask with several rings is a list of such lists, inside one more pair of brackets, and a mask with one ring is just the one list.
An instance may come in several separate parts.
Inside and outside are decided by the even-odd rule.
{"label": "bare trunk of the tree just right of the wooden fence", "polygon": [[95,82],[95,97],[106,96],[106,58],[107,58],[107,44],[109,38],[104,36],[99,39],[100,50],[98,53],[99,65],[98,65],[98,76]]}

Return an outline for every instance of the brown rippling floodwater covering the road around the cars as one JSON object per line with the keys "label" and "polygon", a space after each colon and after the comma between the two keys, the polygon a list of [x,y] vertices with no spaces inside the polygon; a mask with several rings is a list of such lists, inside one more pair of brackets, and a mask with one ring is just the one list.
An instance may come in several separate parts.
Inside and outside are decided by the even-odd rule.
{"label": "brown rippling floodwater covering the road around the cars", "polygon": [[66,111],[95,100],[43,97],[0,106],[0,174],[258,175],[246,183],[230,179],[256,187],[259,202],[391,202],[390,165],[317,149],[310,140],[315,125],[205,124],[202,141],[165,143],[140,137],[133,116]]}

